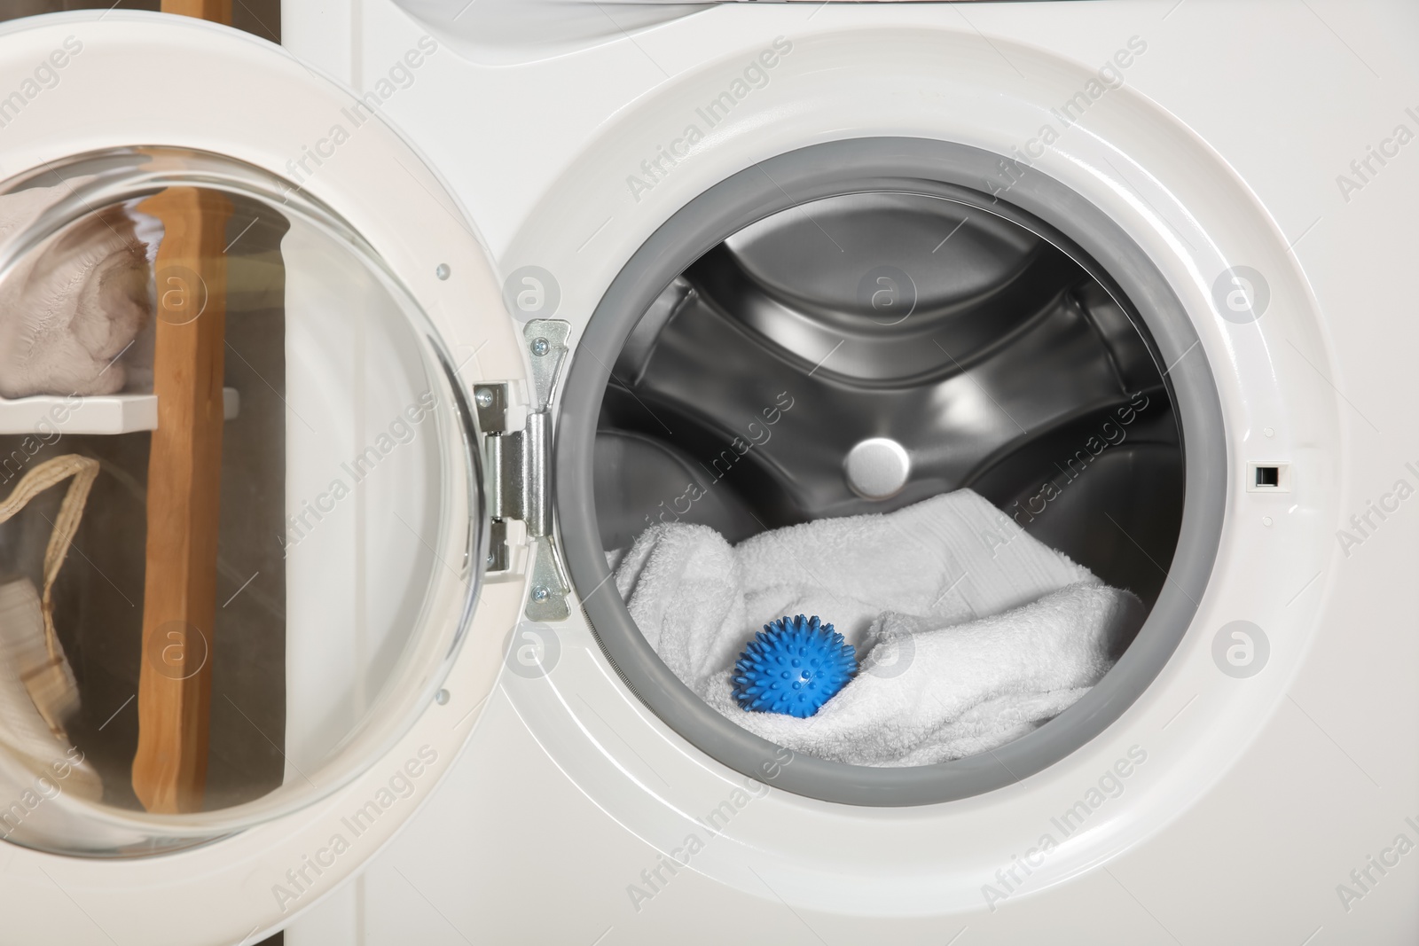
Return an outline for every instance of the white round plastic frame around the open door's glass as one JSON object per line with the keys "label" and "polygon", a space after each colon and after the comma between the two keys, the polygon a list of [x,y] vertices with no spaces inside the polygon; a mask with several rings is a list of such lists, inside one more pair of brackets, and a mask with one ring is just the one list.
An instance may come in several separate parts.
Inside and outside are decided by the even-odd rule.
{"label": "white round plastic frame around the open door's glass", "polygon": [[[453,367],[468,391],[477,382],[526,376],[494,267],[467,214],[393,126],[366,121],[341,145],[339,160],[325,162],[304,180],[291,176],[288,163],[302,148],[342,121],[342,109],[353,101],[349,91],[236,30],[189,17],[104,10],[0,27],[0,87],[20,88],[35,64],[58,50],[68,51],[60,85],[44,89],[6,128],[9,172],[94,150],[162,146],[219,153],[284,177],[369,241],[453,352],[458,362]],[[152,85],[158,61],[183,77],[160,94]],[[270,109],[272,101],[281,108]],[[437,275],[440,264],[450,278]],[[471,357],[475,350],[478,359]],[[470,511],[451,503],[448,513]],[[453,767],[487,708],[524,590],[521,574],[484,581],[461,645],[440,654],[451,662],[441,684],[447,699],[436,702],[430,692],[421,716],[387,752],[305,808],[203,847],[121,862],[10,845],[4,903],[13,935],[179,946],[253,940],[284,926],[379,852]],[[450,621],[460,620],[464,604],[461,596],[430,603]],[[410,694],[410,703],[420,699]],[[420,770],[413,793],[387,810],[380,806],[380,817],[353,835],[346,825],[350,813],[382,798],[396,774],[407,779],[412,762]],[[57,911],[55,886],[72,892],[84,913]]]}

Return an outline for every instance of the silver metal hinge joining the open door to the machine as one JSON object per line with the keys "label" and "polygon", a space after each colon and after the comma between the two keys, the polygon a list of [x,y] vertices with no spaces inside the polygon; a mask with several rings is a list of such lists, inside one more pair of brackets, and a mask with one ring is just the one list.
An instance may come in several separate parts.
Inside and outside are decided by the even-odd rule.
{"label": "silver metal hinge joining the open door to the machine", "polygon": [[475,384],[473,401],[482,431],[488,509],[492,530],[488,542],[488,572],[512,567],[508,522],[526,526],[531,546],[531,591],[526,616],[534,621],[563,621],[570,614],[566,597],[570,586],[562,555],[552,536],[552,396],[566,365],[570,323],[534,319],[522,326],[532,360],[532,404],[522,430],[508,430],[508,386]]}

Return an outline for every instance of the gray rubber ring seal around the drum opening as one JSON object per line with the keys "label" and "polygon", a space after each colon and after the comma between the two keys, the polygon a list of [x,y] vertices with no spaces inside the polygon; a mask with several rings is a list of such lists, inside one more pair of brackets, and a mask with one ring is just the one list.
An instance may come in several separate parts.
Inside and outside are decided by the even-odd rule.
{"label": "gray rubber ring seal around the drum opening", "polygon": [[[558,538],[582,610],[622,681],[687,742],[786,791],[851,806],[921,806],[966,798],[1026,779],[1103,733],[1172,657],[1198,610],[1222,540],[1227,451],[1222,403],[1206,357],[1182,357],[1199,336],[1186,309],[1142,248],[1103,210],[1029,169],[1006,194],[999,155],[954,142],[857,138],[771,157],[704,191],[670,217],[626,262],[573,349],[556,424]],[[826,762],[761,739],[721,716],[661,662],[626,610],[602,552],[592,457],[602,396],[631,328],[694,260],[742,227],[820,197],[905,191],[965,200],[1037,233],[1073,257],[1142,322],[1162,365],[1183,444],[1183,515],[1168,580],[1125,654],[1083,699],[1034,732],[978,756],[881,769]],[[971,199],[973,196],[973,199]],[[1056,228],[1056,226],[1059,228]],[[1147,335],[1145,335],[1147,338]],[[792,764],[783,764],[792,757]]]}

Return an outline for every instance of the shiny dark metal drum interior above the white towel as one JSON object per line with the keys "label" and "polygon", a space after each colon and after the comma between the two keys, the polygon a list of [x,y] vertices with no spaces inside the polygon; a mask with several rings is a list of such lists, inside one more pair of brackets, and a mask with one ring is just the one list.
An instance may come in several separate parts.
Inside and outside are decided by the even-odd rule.
{"label": "shiny dark metal drum interior above the white towel", "polygon": [[965,488],[1156,599],[1182,452],[1147,329],[1064,251],[965,204],[844,194],[735,233],[656,301],[606,389],[607,550],[653,522],[739,542]]}

